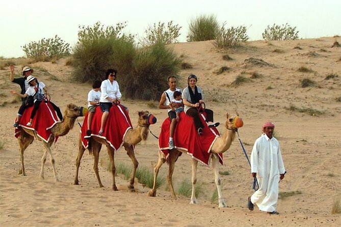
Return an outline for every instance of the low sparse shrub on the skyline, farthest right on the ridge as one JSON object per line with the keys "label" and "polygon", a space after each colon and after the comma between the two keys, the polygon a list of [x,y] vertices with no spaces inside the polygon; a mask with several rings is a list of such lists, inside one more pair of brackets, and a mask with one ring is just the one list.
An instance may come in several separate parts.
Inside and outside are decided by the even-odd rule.
{"label": "low sparse shrub on the skyline, farthest right on the ridge", "polygon": [[261,34],[263,39],[265,40],[296,40],[298,39],[298,31],[296,31],[296,27],[292,27],[290,25],[282,24],[270,25],[264,30],[264,33]]}

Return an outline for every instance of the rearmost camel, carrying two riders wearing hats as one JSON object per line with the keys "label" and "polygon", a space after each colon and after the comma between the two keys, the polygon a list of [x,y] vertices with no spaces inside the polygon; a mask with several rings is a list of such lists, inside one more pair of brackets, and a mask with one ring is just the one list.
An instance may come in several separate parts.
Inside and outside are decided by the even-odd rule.
{"label": "rearmost camel, carrying two riders wearing hats", "polygon": [[38,140],[41,140],[44,147],[45,147],[45,152],[41,158],[41,170],[40,170],[40,178],[44,179],[44,164],[46,162],[46,156],[47,153],[50,156],[50,162],[53,168],[55,180],[59,181],[56,173],[56,167],[55,167],[55,159],[52,155],[51,152],[51,146],[55,140],[56,136],[63,136],[66,135],[74,125],[74,122],[77,117],[80,117],[83,115],[81,109],[83,107],[78,107],[74,104],[68,104],[65,112],[64,112],[64,119],[62,122],[58,122],[57,124],[54,125],[53,128],[51,128],[51,136],[49,137],[49,140],[45,142],[44,140],[40,139],[36,135],[36,131],[31,130],[31,129],[26,129],[19,127],[20,132],[18,136],[18,143],[19,143],[19,150],[20,150],[20,160],[21,160],[21,168],[19,169],[19,174],[22,176],[26,176],[25,174],[25,167],[23,165],[23,152],[29,147],[30,144],[32,144],[34,137],[36,137]]}

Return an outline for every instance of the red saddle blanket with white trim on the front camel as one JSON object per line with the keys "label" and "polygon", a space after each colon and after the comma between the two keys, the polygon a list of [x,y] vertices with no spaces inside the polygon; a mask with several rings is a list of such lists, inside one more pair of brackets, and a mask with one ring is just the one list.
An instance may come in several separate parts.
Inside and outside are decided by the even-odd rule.
{"label": "red saddle blanket with white trim on the front camel", "polygon": [[[195,129],[193,117],[186,115],[185,112],[180,112],[180,120],[176,124],[173,136],[174,147],[187,151],[187,154],[191,155],[192,158],[208,166],[212,155],[211,148],[220,135],[216,128],[208,128],[205,122],[205,113],[200,113],[199,116],[202,124],[205,126],[202,135],[199,135]],[[169,155],[169,126],[170,119],[167,118],[162,123],[159,136],[159,149],[166,158]],[[223,164],[223,154],[218,156],[219,162]]]}

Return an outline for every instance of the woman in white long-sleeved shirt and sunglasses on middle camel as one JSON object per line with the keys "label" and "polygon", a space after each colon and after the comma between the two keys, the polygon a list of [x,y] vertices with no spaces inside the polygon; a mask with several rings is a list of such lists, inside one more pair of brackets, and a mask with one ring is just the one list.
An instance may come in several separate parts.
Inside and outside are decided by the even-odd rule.
{"label": "woman in white long-sleeved shirt and sunglasses on middle camel", "polygon": [[[115,69],[108,69],[106,72],[106,77],[107,79],[103,80],[100,86],[101,96],[99,100],[99,106],[103,113],[98,135],[103,134],[104,124],[107,121],[110,107],[112,107],[113,104],[119,104],[122,97],[120,88],[116,81],[117,71]],[[128,108],[125,106],[123,107],[125,111],[129,113]]]}

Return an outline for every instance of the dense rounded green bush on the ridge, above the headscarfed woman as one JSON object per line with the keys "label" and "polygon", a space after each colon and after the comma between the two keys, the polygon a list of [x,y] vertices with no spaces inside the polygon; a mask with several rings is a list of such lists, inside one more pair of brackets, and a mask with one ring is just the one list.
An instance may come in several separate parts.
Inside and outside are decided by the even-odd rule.
{"label": "dense rounded green bush on the ridge, above the headscarfed woman", "polygon": [[187,41],[214,40],[218,30],[219,22],[215,15],[200,15],[190,20]]}

